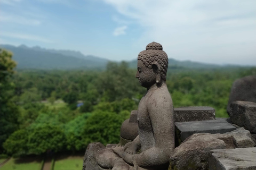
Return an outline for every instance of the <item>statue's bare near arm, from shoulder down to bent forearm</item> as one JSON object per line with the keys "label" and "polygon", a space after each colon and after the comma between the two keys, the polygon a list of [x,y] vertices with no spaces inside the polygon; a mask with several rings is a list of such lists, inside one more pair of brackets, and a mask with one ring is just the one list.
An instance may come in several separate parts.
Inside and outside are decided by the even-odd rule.
{"label": "statue's bare near arm, from shoulder down to bent forearm", "polygon": [[150,98],[147,109],[153,128],[155,147],[134,155],[135,161],[139,166],[164,164],[169,162],[171,152],[174,149],[174,119],[171,96],[158,94],[157,98]]}

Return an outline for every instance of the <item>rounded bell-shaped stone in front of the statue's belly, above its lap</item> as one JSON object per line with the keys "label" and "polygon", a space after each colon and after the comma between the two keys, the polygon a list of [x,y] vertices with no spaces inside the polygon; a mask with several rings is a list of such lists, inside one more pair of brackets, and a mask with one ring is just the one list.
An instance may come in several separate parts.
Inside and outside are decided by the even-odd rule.
{"label": "rounded bell-shaped stone in front of the statue's belly, above its lap", "polygon": [[138,136],[137,111],[132,111],[130,118],[123,122],[120,135],[127,140],[134,140]]}

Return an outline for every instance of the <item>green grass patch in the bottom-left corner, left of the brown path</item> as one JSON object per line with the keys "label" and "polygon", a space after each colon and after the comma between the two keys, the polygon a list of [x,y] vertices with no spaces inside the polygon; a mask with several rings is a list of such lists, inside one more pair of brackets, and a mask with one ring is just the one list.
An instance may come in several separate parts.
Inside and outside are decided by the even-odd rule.
{"label": "green grass patch in the bottom-left corner, left of the brown path", "polygon": [[0,170],[39,170],[41,161],[39,159],[11,158]]}

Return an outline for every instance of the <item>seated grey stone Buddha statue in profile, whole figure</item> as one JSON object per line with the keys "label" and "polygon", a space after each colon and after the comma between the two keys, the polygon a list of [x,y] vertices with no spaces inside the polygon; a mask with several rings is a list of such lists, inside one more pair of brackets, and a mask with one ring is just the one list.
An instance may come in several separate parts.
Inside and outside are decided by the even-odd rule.
{"label": "seated grey stone Buddha statue in profile, whole figure", "polygon": [[147,88],[138,106],[139,135],[124,147],[98,152],[99,169],[167,169],[174,150],[174,118],[166,86],[168,57],[158,43],[138,55],[136,78]]}

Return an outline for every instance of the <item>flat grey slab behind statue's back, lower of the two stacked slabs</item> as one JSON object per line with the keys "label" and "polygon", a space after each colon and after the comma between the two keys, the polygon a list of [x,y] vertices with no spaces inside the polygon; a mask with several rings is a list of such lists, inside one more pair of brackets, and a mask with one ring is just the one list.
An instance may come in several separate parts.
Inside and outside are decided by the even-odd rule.
{"label": "flat grey slab behind statue's back, lower of the two stacked slabs", "polygon": [[179,142],[184,141],[194,133],[226,133],[236,128],[226,120],[209,120],[197,122],[175,122],[176,133]]}

